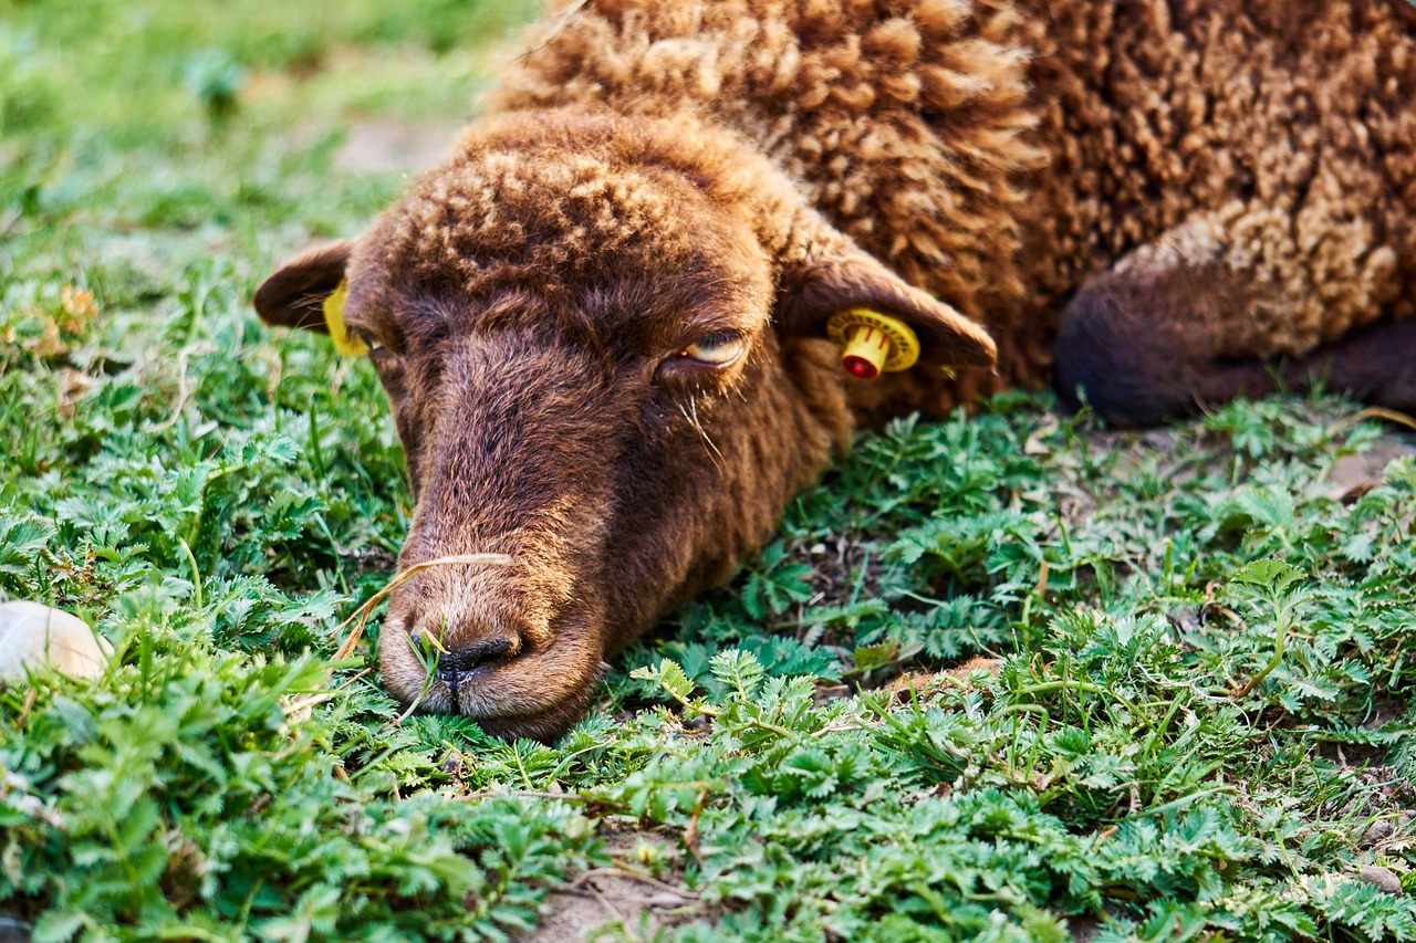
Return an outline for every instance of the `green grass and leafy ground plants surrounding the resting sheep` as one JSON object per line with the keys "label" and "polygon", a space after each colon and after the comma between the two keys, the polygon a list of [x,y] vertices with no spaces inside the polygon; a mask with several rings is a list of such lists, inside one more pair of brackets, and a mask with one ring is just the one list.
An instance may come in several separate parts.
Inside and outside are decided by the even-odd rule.
{"label": "green grass and leafy ground plants surrounding the resting sheep", "polygon": [[118,653],[0,691],[4,919],[503,939],[633,875],[675,910],[596,892],[603,939],[1416,939],[1359,879],[1416,893],[1416,449],[1340,399],[861,436],[554,746],[336,658],[402,459],[372,370],[246,299],[405,184],[351,129],[450,144],[531,14],[0,0],[0,593]]}

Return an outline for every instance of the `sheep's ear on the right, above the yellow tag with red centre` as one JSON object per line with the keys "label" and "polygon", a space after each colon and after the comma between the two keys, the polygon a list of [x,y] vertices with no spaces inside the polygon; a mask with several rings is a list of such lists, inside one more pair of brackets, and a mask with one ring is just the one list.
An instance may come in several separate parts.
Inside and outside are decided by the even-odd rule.
{"label": "sheep's ear on the right, above the yellow tag with red centre", "polygon": [[919,336],[926,367],[993,367],[998,350],[974,321],[910,286],[861,251],[817,259],[783,287],[779,323],[784,334],[826,334],[833,314],[869,309],[898,317]]}

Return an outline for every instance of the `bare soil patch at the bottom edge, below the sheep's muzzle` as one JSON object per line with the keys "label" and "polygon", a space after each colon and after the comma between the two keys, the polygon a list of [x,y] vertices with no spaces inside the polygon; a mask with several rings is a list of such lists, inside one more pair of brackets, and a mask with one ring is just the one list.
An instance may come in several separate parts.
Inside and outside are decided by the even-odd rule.
{"label": "bare soil patch at the bottom edge, below the sheep's muzzle", "polygon": [[[666,927],[712,919],[683,886],[681,855],[663,835],[615,831],[605,844],[615,867],[586,871],[552,891],[535,930],[518,943],[582,943],[616,929],[620,936],[609,939],[651,940]],[[644,858],[663,862],[660,876],[647,874]]]}

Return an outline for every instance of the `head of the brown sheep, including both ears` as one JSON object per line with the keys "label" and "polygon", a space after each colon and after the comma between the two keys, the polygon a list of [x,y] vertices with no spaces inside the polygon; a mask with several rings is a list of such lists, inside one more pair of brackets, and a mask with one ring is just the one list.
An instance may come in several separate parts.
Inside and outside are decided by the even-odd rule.
{"label": "head of the brown sheep, including both ears", "polygon": [[605,658],[731,575],[843,442],[824,314],[889,307],[956,361],[991,355],[838,235],[784,259],[772,194],[719,185],[731,161],[685,173],[646,159],[641,136],[590,132],[554,149],[473,137],[357,244],[256,296],[268,320],[303,324],[347,283],[416,498],[402,568],[511,558],[404,583],[379,653],[401,701],[504,736],[562,732]]}

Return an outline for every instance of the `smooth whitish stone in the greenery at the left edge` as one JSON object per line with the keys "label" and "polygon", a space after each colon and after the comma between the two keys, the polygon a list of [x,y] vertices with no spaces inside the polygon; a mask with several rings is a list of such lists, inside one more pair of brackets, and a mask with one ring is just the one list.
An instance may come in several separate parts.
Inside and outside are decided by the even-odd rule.
{"label": "smooth whitish stone in the greenery at the left edge", "polygon": [[34,602],[0,603],[0,684],[24,681],[45,661],[71,678],[103,674],[113,646],[78,616]]}

